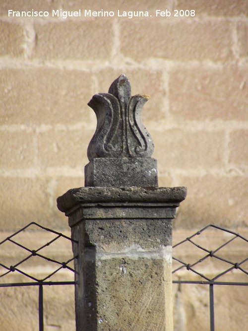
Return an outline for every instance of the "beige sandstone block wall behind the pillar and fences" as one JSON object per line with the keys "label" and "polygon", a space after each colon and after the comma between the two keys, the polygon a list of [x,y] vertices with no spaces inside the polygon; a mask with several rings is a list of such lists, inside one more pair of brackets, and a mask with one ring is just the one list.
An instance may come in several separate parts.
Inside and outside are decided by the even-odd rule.
{"label": "beige sandstone block wall behind the pillar and fences", "polygon": [[[50,16],[8,17],[8,9],[46,10]],[[116,15],[64,19],[52,17],[52,9]],[[117,17],[118,9],[149,10],[152,17]],[[155,17],[156,9],[172,15]],[[195,10],[195,16],[172,17],[175,9]],[[31,221],[69,235],[56,199],[84,186],[96,128],[87,102],[107,92],[121,73],[132,95],[151,97],[142,116],[155,143],[159,186],[188,189],[174,242],[209,223],[248,238],[247,0],[0,0],[0,239]],[[31,244],[47,238],[42,231],[24,234]],[[209,248],[226,238],[209,234]],[[233,245],[229,253],[239,260],[247,246]],[[9,254],[19,253],[0,250],[4,261]],[[51,254],[69,257],[70,244]],[[178,254],[187,258],[193,251]],[[205,271],[218,268],[210,263]],[[47,269],[41,265],[34,273]],[[233,281],[236,276],[231,274]],[[60,277],[73,278],[66,271]],[[11,279],[22,278],[13,273]],[[175,330],[209,330],[208,287],[174,290]],[[74,330],[73,286],[44,291],[45,330]],[[247,290],[221,286],[215,294],[216,330],[245,330]],[[37,309],[38,288],[0,288],[0,331],[38,330]]]}

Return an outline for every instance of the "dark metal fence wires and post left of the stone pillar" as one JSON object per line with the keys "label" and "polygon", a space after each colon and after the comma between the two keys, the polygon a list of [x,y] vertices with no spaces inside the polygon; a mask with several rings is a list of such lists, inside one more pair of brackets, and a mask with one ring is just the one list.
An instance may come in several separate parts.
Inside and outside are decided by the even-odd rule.
{"label": "dark metal fence wires and post left of the stone pillar", "polygon": [[[18,234],[25,230],[29,230],[30,228],[37,228],[37,230],[45,230],[47,232],[55,234],[55,237],[47,242],[45,245],[42,245],[41,247],[31,250],[30,248],[24,246],[23,244],[18,242]],[[16,239],[17,237],[17,239]],[[66,262],[60,262],[55,259],[51,259],[47,257],[45,254],[42,253],[42,250],[45,249],[46,247],[50,246],[54,242],[56,242],[58,239],[64,238],[66,240],[69,240],[70,242],[77,243],[75,240],[63,235],[62,233],[59,233],[57,231],[51,230],[49,228],[46,228],[40,224],[37,224],[35,222],[31,222],[19,231],[15,232],[11,236],[5,238],[2,242],[0,242],[0,249],[1,245],[3,245],[6,242],[10,242],[16,246],[18,246],[22,251],[24,251],[25,258],[22,259],[21,261],[18,261],[14,265],[6,265],[0,262],[0,281],[4,280],[3,277],[8,275],[11,272],[18,272],[29,279],[27,282],[16,282],[16,283],[0,283],[0,287],[14,287],[14,286],[39,286],[39,331],[44,330],[44,314],[43,314],[43,286],[44,285],[70,285],[70,284],[76,284],[75,281],[51,281],[49,280],[53,275],[58,273],[62,268],[66,268],[72,273],[77,273],[72,267],[69,266],[69,263],[73,261],[74,259],[77,258],[77,256],[72,257]],[[9,252],[10,253],[10,252]],[[27,253],[27,254],[26,254]],[[46,276],[42,279],[38,279],[34,277],[33,275],[24,272],[23,271],[23,264],[26,261],[30,261],[30,259],[34,259],[35,257],[39,257],[41,259],[46,260],[49,264],[55,266],[55,270],[52,273],[46,274]],[[25,269],[25,267],[24,267]],[[6,278],[6,277],[5,277]],[[31,281],[30,281],[31,280]]]}

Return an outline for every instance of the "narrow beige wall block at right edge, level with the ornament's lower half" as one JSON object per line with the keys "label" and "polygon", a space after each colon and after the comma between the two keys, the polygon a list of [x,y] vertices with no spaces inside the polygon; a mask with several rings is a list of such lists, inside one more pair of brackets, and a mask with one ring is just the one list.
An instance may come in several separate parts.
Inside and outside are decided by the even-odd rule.
{"label": "narrow beige wall block at right edge, level with the ornament's lower half", "polygon": [[248,164],[248,131],[236,130],[230,133],[229,162],[237,166]]}

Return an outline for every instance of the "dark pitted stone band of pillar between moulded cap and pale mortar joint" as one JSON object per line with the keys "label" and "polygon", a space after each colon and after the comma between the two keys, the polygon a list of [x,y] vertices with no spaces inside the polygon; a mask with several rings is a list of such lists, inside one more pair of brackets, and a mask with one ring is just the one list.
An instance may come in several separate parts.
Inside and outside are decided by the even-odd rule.
{"label": "dark pitted stone band of pillar between moulded cap and pale mortar joint", "polygon": [[171,219],[113,219],[85,223],[85,245],[99,251],[118,252],[120,248],[153,250],[171,245]]}

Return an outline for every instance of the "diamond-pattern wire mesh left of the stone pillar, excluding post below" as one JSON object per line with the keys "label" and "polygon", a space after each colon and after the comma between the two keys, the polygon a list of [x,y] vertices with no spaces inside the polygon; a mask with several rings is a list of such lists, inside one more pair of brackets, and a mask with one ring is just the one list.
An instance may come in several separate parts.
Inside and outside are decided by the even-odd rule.
{"label": "diamond-pattern wire mesh left of the stone pillar, excluding post below", "polygon": [[[38,247],[37,249],[30,249],[28,247],[26,247],[25,245],[21,244],[20,242],[18,242],[15,237],[17,237],[18,234],[20,234],[21,232],[30,229],[30,227],[37,227],[37,230],[45,230],[47,232],[53,233],[56,236],[49,240],[47,243],[45,243],[44,245]],[[37,234],[35,234],[37,235]],[[72,267],[69,266],[69,263],[71,261],[73,261],[74,259],[77,258],[77,256],[72,257],[71,259],[65,261],[65,262],[61,262],[61,261],[57,261],[55,259],[51,259],[48,256],[46,256],[45,254],[42,254],[42,250],[44,250],[45,248],[47,248],[50,245],[53,245],[54,242],[56,242],[58,239],[60,238],[64,238],[65,240],[69,240],[70,242],[74,242],[77,243],[75,240],[63,235],[62,233],[59,233],[57,231],[51,230],[49,228],[43,227],[42,225],[35,223],[35,222],[31,222],[28,225],[26,225],[25,227],[23,227],[22,229],[20,229],[19,231],[15,232],[14,234],[12,234],[11,236],[5,238],[3,241],[0,242],[0,249],[1,249],[1,245],[3,245],[6,242],[10,242],[16,246],[18,246],[18,248],[22,251],[27,253],[27,255],[25,256],[25,258],[23,258],[22,260],[16,262],[13,265],[6,265],[4,263],[1,263],[0,261],[0,267],[2,272],[0,272],[0,282],[1,279],[3,279],[2,277],[6,276],[7,274],[17,271],[20,274],[28,277],[29,279],[32,279],[33,281],[39,283],[39,284],[45,284],[46,280],[48,280],[50,277],[52,277],[54,274],[58,273],[62,268],[66,268],[67,270],[70,270],[72,273],[77,273],[77,271],[75,271]],[[9,252],[11,253],[11,252]],[[25,255],[25,254],[24,254]],[[24,272],[22,269],[22,265],[25,264],[25,262],[30,261],[31,259],[33,259],[34,257],[39,257],[42,260],[45,260],[48,264],[53,265],[54,270],[48,274],[45,275],[45,277],[43,277],[42,279],[38,279],[36,277],[34,277],[33,275]],[[53,284],[65,284],[65,283],[75,283],[75,282],[51,282],[49,281],[49,283],[53,283]],[[31,283],[30,283],[31,284]],[[6,286],[7,284],[1,284],[0,283],[0,287],[1,286]],[[16,283],[15,285],[19,285],[21,286],[22,283]],[[38,284],[37,284],[38,285]],[[14,286],[14,284],[12,283],[11,286]]]}

